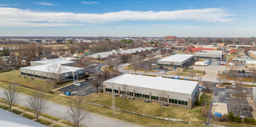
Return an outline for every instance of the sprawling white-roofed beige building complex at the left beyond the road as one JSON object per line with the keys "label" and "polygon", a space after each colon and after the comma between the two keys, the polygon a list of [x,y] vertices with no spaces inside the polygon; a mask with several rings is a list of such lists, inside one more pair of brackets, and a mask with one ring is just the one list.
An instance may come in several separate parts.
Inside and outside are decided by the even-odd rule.
{"label": "sprawling white-roofed beige building complex at the left beyond the road", "polygon": [[[35,78],[38,80],[54,81],[53,72],[57,72],[58,68],[62,66],[64,69],[60,71],[60,81],[67,80],[78,80],[79,77],[85,75],[85,68],[77,68],[71,65],[76,64],[76,61],[70,61],[70,58],[59,58],[59,59],[49,59],[46,61],[34,61],[30,62],[32,66],[27,66],[20,68],[21,77]],[[56,70],[49,70],[49,66],[57,65]]]}

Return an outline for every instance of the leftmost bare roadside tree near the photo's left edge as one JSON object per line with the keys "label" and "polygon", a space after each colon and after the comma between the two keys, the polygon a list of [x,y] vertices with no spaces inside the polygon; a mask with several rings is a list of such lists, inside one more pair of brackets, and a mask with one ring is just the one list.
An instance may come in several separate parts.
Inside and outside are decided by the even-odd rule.
{"label": "leftmost bare roadside tree near the photo's left edge", "polygon": [[18,90],[17,85],[11,85],[11,84],[8,84],[7,87],[5,87],[4,89],[3,100],[4,100],[4,103],[8,105],[8,107],[10,108],[10,111],[11,111],[11,108],[13,107],[13,104],[17,103],[18,99],[20,98],[20,96],[18,96],[17,90]]}

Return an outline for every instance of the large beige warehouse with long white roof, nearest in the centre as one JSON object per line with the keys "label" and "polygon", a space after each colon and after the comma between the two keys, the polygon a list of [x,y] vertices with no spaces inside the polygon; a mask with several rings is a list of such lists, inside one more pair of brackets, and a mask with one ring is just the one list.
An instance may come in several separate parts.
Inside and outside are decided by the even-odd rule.
{"label": "large beige warehouse with long white roof, nearest in the centre", "polygon": [[[111,85],[113,84],[114,85]],[[126,85],[129,90],[123,91]],[[127,94],[138,100],[148,100],[160,103],[159,93],[166,92],[166,103],[171,106],[179,106],[192,109],[198,94],[198,82],[188,80],[174,80],[163,77],[149,77],[144,75],[123,74],[104,81],[104,94]]]}

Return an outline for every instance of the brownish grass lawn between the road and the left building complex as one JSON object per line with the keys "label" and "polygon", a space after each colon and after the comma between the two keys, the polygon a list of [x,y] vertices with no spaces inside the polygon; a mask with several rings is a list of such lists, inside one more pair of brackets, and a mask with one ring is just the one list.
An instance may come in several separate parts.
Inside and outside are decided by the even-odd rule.
{"label": "brownish grass lawn between the road and the left building complex", "polygon": [[[18,77],[18,75],[20,75],[20,70],[14,71],[14,83],[21,85],[23,87],[29,87],[29,88],[37,88],[38,85],[43,85],[46,87],[45,91],[51,91],[52,87],[54,86],[53,82],[45,82],[45,81],[41,81],[41,80],[30,80],[30,77],[27,78],[23,78],[23,77]],[[3,72],[0,73],[0,81],[2,82],[13,82],[13,72]],[[61,84],[61,85],[57,85],[57,87],[62,87],[66,84]]]}

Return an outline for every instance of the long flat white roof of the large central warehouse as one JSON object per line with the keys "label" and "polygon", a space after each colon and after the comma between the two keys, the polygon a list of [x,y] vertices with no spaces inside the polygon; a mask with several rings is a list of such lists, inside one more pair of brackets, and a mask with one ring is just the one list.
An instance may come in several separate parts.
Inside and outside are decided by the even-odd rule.
{"label": "long flat white roof of the large central warehouse", "polygon": [[144,75],[123,74],[104,82],[115,82],[135,87],[151,88],[183,94],[192,94],[198,85],[197,81],[175,80],[171,78],[149,77]]}

